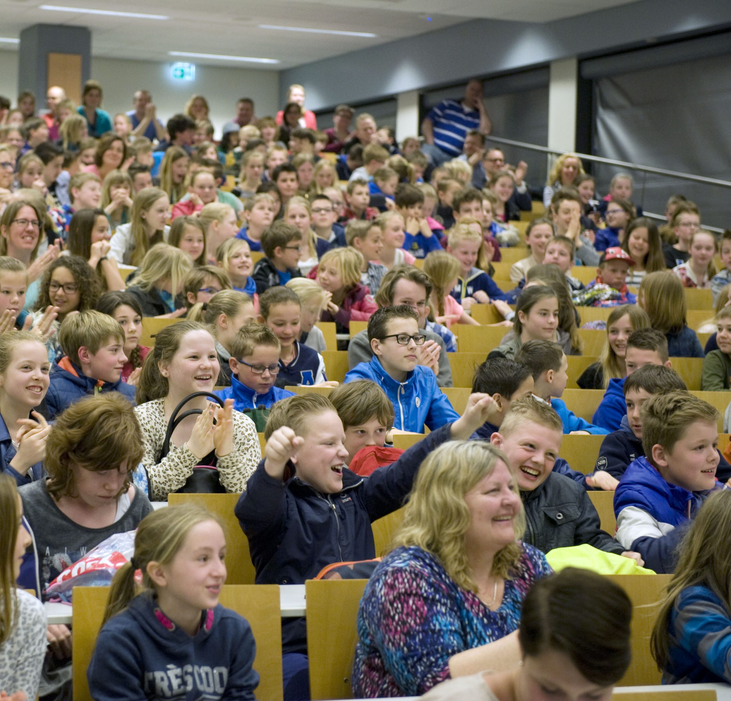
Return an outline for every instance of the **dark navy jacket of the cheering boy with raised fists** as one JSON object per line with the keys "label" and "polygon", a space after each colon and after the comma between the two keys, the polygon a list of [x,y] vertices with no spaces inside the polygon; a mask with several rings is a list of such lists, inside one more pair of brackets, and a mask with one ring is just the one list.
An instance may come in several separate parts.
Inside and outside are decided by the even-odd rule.
{"label": "dark navy jacket of the cheering boy with raised fists", "polygon": [[[343,490],[337,494],[322,494],[296,475],[275,479],[262,460],[235,508],[249,539],[256,583],[303,584],[326,565],[375,558],[371,523],[403,506],[421,463],[450,439],[451,425],[431,432],[393,465],[368,477],[344,468]],[[289,468],[296,469],[291,463]],[[287,621],[282,643],[285,652],[306,651],[303,618]]]}

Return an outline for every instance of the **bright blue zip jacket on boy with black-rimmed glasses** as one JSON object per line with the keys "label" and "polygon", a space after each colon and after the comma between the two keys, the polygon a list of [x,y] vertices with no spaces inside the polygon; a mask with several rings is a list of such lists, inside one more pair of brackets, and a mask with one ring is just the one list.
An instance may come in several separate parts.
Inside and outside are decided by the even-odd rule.
{"label": "bright blue zip jacket on boy with black-rimmed glasses", "polygon": [[383,369],[377,356],[369,363],[358,363],[345,375],[346,382],[371,380],[381,386],[393,404],[393,427],[402,431],[423,433],[424,424],[433,431],[459,419],[446,394],[436,383],[436,375],[428,367],[417,365],[406,376],[406,382],[395,381]]}

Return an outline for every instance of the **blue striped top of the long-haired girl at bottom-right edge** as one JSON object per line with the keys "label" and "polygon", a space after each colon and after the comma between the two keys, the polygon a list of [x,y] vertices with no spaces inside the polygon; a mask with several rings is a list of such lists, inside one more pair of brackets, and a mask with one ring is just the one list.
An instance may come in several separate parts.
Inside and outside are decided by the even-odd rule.
{"label": "blue striped top of the long-haired girl at bottom-right edge", "polygon": [[728,604],[710,588],[683,589],[670,610],[670,656],[662,683],[731,683],[730,630]]}

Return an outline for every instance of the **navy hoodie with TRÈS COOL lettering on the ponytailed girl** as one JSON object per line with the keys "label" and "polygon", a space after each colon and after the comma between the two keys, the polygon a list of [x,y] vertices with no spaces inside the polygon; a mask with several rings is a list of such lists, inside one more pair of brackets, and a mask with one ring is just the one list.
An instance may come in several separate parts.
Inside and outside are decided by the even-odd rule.
{"label": "navy hoodie with TR\u00c8S COOL lettering on the ponytailed girl", "polygon": [[86,678],[95,701],[253,701],[255,655],[238,613],[205,610],[191,637],[144,593],[102,628]]}

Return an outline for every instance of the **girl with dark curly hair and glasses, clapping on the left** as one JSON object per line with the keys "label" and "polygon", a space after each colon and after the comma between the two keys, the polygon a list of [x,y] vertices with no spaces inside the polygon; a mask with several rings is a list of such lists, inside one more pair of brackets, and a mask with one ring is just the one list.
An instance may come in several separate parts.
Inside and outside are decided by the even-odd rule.
{"label": "girl with dark curly hair and glasses, clapping on the left", "polygon": [[64,355],[58,345],[58,327],[61,322],[72,312],[94,309],[100,292],[99,280],[86,258],[80,255],[62,255],[51,263],[40,282],[33,315],[35,324],[49,305],[58,309],[58,317],[51,325],[56,333],[46,342],[50,361],[56,361]]}

